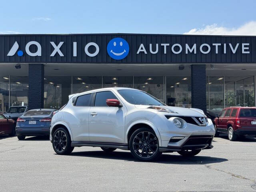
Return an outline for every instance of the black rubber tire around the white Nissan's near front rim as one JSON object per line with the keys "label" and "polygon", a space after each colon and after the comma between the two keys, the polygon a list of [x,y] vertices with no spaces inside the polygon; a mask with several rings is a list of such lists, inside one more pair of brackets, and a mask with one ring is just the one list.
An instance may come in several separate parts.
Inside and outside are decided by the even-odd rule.
{"label": "black rubber tire around the white Nissan's near front rim", "polygon": [[[135,137],[139,132],[142,132],[142,131],[147,131],[147,132],[150,132],[151,134],[154,134],[154,136],[156,137],[157,142],[158,142],[158,149],[157,149],[157,152],[156,152],[153,156],[151,156],[151,157],[149,157],[149,158],[142,158],[142,157],[138,156],[138,155],[136,154],[136,152],[134,152],[134,149],[133,149],[133,144],[132,144],[132,143],[133,143],[134,137]],[[157,138],[155,132],[152,131],[152,130],[149,129],[149,128],[139,128],[139,129],[137,129],[137,130],[132,134],[132,136],[130,137],[130,140],[129,140],[129,148],[130,148],[130,151],[131,151],[131,153],[132,153],[132,156],[134,156],[135,158],[137,158],[138,160],[141,160],[141,161],[152,161],[152,160],[156,160],[156,158],[158,158],[158,156],[160,156],[160,154],[162,154],[162,152],[159,151],[159,140],[158,140],[158,138]]]}

